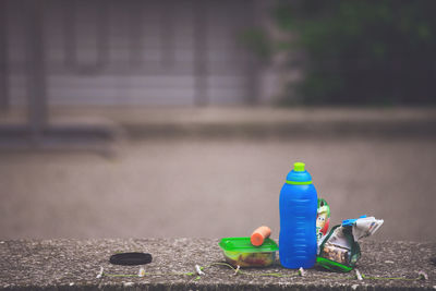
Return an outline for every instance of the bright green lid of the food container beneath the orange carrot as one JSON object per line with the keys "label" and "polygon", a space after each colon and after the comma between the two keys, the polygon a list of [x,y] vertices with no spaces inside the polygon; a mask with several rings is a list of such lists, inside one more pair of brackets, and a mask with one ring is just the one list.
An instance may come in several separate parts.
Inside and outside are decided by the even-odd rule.
{"label": "bright green lid of the food container beneath the orange carrot", "polygon": [[225,238],[219,242],[219,246],[226,252],[241,252],[241,253],[265,253],[276,252],[279,250],[277,243],[271,239],[266,239],[259,246],[254,246],[250,237],[247,238]]}

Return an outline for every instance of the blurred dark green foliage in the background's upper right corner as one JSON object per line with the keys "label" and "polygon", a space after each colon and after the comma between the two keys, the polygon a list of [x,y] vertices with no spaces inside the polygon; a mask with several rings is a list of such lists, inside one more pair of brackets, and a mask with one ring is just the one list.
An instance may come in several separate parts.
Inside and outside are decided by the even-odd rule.
{"label": "blurred dark green foliage in the background's upper right corner", "polygon": [[303,104],[434,104],[435,14],[435,0],[278,1],[274,21],[294,37],[270,47],[305,51]]}

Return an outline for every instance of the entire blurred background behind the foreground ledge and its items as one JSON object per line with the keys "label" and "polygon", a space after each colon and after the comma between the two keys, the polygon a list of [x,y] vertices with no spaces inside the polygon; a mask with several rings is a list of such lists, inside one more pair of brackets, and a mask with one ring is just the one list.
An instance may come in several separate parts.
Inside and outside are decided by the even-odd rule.
{"label": "entire blurred background behind the foreground ledge and its items", "polygon": [[278,238],[303,161],[330,226],[435,241],[435,9],[0,0],[0,239]]}

